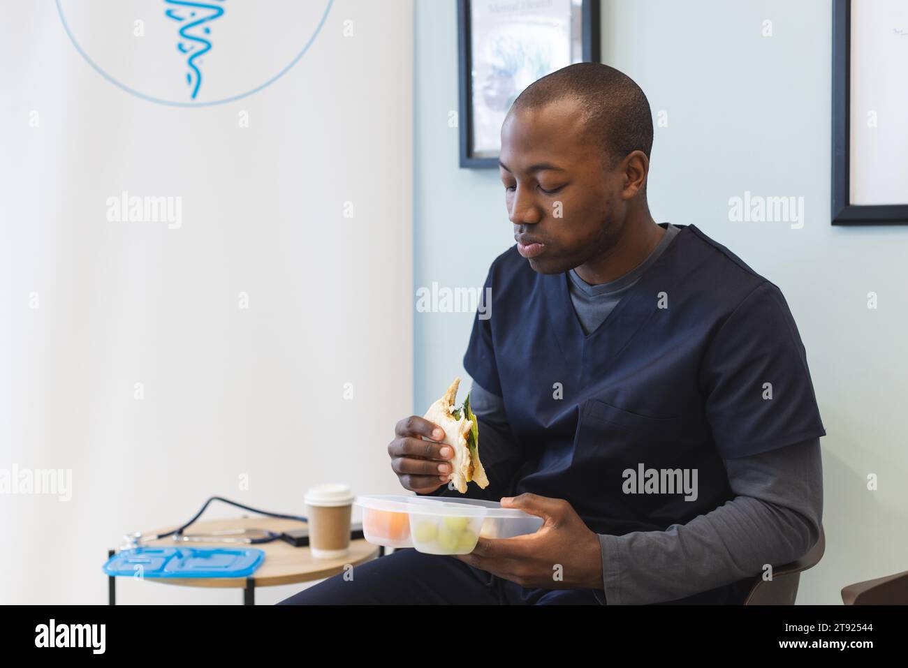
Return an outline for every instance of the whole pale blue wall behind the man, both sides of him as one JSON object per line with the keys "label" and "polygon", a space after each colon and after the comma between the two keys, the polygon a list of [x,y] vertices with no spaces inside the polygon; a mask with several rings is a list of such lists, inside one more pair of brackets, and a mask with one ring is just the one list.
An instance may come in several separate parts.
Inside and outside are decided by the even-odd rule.
{"label": "whole pale blue wall behind the man, both sides of him", "polygon": [[[417,2],[414,285],[481,285],[513,244],[494,170],[459,170],[454,3]],[[656,221],[696,224],[784,292],[824,426],[826,555],[798,603],[904,570],[903,398],[908,396],[908,227],[830,225],[831,3],[604,0],[603,62],[631,76],[656,128]],[[765,20],[773,36],[762,35]],[[729,221],[729,198],[804,197],[804,227]],[[432,252],[458,234],[469,254]],[[867,308],[867,293],[879,308]],[[415,410],[463,373],[471,314],[417,314]],[[439,351],[449,351],[439,354]],[[879,476],[868,491],[867,476]]]}

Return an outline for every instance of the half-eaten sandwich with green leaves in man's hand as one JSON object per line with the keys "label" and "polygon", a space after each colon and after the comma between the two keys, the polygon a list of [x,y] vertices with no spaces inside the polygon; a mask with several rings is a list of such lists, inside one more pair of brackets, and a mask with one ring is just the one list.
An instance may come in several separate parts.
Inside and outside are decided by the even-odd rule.
{"label": "half-eaten sandwich with green leaves in man's hand", "polygon": [[445,437],[441,443],[454,450],[454,457],[450,459],[453,470],[449,481],[454,483],[460,494],[466,494],[469,481],[485,489],[489,486],[489,478],[479,461],[479,424],[469,408],[469,394],[462,407],[454,406],[459,385],[460,378],[454,378],[448,391],[429,407],[423,417],[444,429]]}

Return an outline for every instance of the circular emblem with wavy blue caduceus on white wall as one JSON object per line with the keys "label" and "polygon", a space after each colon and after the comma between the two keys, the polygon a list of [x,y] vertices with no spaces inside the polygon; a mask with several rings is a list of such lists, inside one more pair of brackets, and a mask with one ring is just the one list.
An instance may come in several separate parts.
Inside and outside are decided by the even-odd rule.
{"label": "circular emblem with wavy blue caduceus on white wall", "polygon": [[281,78],[332,0],[55,0],[76,50],[112,85],[153,103],[232,102]]}

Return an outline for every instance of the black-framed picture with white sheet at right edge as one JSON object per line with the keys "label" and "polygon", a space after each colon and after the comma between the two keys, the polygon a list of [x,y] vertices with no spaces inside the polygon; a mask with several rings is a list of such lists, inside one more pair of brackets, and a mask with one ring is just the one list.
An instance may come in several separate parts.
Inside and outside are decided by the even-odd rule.
{"label": "black-framed picture with white sheet at right edge", "polygon": [[834,225],[908,224],[908,2],[834,0]]}

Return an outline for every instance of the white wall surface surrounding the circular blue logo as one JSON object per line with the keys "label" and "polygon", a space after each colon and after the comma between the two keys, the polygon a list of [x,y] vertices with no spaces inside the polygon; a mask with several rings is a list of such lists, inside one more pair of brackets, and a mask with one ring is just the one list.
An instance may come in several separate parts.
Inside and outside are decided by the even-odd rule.
{"label": "white wall surface surrounding the circular blue logo", "polygon": [[[0,603],[106,602],[107,548],[208,496],[303,514],[311,485],[399,488],[385,447],[412,404],[412,15],[336,0],[279,81],[184,108],[96,73],[53,2],[5,7],[0,468],[72,469],[73,492],[0,496]],[[108,221],[123,190],[182,197],[182,226]],[[122,603],[240,600],[120,582]]]}

